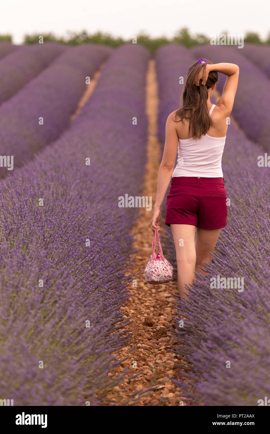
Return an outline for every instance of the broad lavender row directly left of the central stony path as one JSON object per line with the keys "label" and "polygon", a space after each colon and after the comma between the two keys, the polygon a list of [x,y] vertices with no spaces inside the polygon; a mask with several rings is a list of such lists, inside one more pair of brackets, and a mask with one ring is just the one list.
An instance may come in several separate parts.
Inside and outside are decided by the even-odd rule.
{"label": "broad lavender row directly left of the central stony path", "polygon": [[118,197],[140,193],[149,56],[115,49],[72,127],[1,181],[0,396],[14,405],[98,405],[121,381],[108,374],[128,339],[136,209]]}

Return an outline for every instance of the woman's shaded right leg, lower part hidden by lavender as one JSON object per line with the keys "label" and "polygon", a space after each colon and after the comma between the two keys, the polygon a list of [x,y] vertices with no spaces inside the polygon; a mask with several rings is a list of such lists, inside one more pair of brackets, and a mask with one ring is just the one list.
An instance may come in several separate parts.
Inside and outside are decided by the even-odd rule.
{"label": "woman's shaded right leg, lower part hidden by lavender", "polygon": [[197,227],[196,230],[196,273],[202,273],[205,276],[207,273],[202,271],[200,267],[204,267],[204,262],[211,262],[212,255],[210,252],[214,252],[215,245],[218,241],[221,229],[201,229]]}

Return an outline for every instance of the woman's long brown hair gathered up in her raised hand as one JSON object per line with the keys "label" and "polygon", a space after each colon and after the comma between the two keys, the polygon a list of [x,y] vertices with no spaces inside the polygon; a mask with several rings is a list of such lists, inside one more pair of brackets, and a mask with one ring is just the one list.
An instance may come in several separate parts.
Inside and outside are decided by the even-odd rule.
{"label": "woman's long brown hair gathered up in her raised hand", "polygon": [[[208,63],[210,60],[206,59]],[[206,63],[193,63],[189,67],[188,76],[185,80],[184,90],[182,93],[182,107],[177,110],[176,116],[189,120],[189,133],[192,132],[192,137],[200,138],[207,133],[208,129],[212,126],[212,121],[209,116],[207,107],[208,89],[210,89],[218,81],[218,73],[210,71],[205,85],[201,81],[199,85],[195,85],[195,79],[200,71],[204,69],[205,74]],[[181,103],[180,103],[181,105]],[[174,119],[173,119],[174,120]],[[180,122],[175,121],[175,122]]]}

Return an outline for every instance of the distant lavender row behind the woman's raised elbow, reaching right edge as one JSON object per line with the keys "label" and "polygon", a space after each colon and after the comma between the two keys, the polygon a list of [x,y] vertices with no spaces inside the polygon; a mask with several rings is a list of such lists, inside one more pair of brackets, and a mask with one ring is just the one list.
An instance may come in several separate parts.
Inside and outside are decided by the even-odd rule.
{"label": "distant lavender row behind the woman's raised elbow, reaching right edge", "polygon": [[[241,49],[231,46],[205,45],[193,47],[194,56],[206,57],[213,63],[231,62],[240,67],[237,98],[232,115],[247,136],[269,150],[270,136],[270,82],[265,74],[241,53]],[[221,92],[226,79],[219,74],[218,90]]]}

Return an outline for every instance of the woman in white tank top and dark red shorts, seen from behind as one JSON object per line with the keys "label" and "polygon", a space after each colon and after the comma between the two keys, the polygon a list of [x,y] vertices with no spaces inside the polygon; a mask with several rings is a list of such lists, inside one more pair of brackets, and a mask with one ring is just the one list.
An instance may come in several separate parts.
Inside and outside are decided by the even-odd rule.
{"label": "woman in white tank top and dark red shorts, seen from behind", "polygon": [[[228,77],[221,97],[212,105],[218,72]],[[227,225],[221,158],[238,76],[239,67],[233,63],[198,59],[189,68],[182,108],[170,113],[166,122],[151,227],[159,230],[160,206],[171,183],[165,224],[172,229],[178,289],[183,298],[187,298],[185,284],[192,283],[194,272],[206,274],[199,267],[211,262],[221,228]]]}

